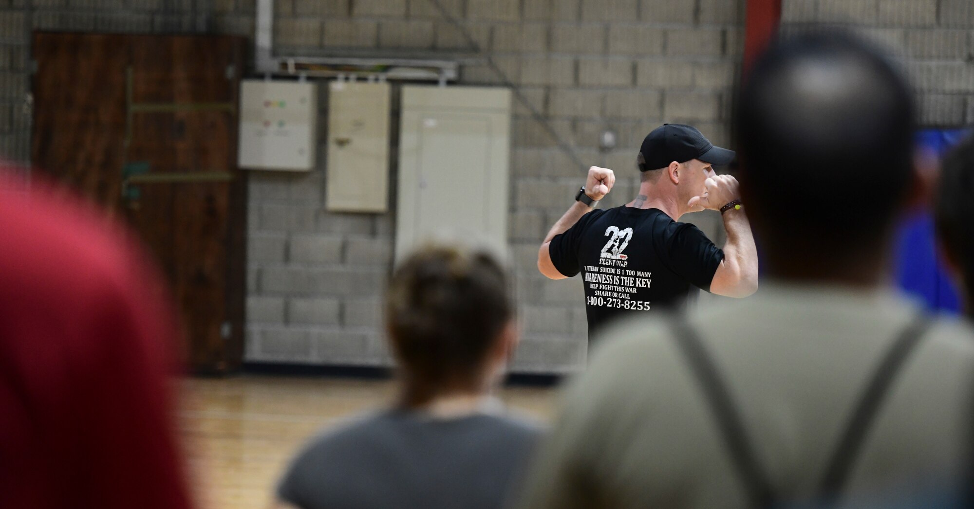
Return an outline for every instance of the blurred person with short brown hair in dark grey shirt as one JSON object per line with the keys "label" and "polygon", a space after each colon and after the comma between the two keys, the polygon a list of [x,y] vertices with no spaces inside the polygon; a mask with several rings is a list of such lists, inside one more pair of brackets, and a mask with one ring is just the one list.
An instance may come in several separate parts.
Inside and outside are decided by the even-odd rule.
{"label": "blurred person with short brown hair in dark grey shirt", "polygon": [[540,434],[491,396],[518,341],[504,270],[429,247],[395,271],[385,313],[398,401],[305,446],[278,506],[501,507]]}

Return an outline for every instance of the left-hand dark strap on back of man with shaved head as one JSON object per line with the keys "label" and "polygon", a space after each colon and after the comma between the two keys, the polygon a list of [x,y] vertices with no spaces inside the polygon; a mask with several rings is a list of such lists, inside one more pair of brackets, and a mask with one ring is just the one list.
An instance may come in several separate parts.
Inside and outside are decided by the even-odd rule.
{"label": "left-hand dark strap on back of man with shaved head", "polygon": [[732,401],[731,392],[707,352],[706,345],[700,341],[699,335],[685,317],[672,316],[670,327],[676,345],[700,383],[710,412],[717,420],[721,437],[731,454],[731,462],[736,467],[734,470],[747,491],[749,506],[773,506],[775,496],[771,484],[758,463],[750,438],[744,430],[743,420]]}

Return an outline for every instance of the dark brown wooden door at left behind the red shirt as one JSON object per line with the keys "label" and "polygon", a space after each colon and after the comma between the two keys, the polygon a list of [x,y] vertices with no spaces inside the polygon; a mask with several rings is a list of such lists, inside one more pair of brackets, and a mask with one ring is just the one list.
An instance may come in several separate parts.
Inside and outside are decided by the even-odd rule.
{"label": "dark brown wooden door at left behind the red shirt", "polygon": [[39,32],[34,58],[35,166],[138,232],[181,308],[191,369],[237,369],[244,39]]}

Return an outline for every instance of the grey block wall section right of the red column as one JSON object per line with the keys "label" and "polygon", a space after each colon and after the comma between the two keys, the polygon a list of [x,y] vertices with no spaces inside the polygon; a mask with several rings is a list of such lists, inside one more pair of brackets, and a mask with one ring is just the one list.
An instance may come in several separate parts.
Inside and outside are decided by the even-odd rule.
{"label": "grey block wall section right of the red column", "polygon": [[841,25],[888,48],[917,92],[921,127],[974,125],[971,0],[784,0],[782,31]]}

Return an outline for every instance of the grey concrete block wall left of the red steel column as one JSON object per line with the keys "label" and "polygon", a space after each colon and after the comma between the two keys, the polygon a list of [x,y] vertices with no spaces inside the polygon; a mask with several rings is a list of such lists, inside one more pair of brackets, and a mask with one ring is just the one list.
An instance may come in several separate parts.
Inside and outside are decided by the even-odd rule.
{"label": "grey concrete block wall left of the red steel column", "polygon": [[[634,197],[635,154],[663,122],[699,127],[728,144],[731,88],[742,51],[744,0],[277,0],[279,55],[456,59],[461,85],[502,83],[493,58],[585,164],[612,167],[606,206]],[[0,154],[29,157],[31,29],[211,32],[253,36],[254,0],[0,0]],[[467,31],[475,47],[463,35]],[[249,361],[388,365],[381,296],[392,272],[394,212],[324,210],[326,91],[321,150],[309,173],[252,172],[248,207]],[[393,189],[398,119],[393,93]],[[584,168],[558,147],[530,108],[514,104],[510,263],[524,338],[517,372],[567,372],[585,357],[581,281],[549,281],[537,248],[571,205]],[[603,129],[618,146],[598,148]],[[718,221],[693,219],[719,235]]]}

